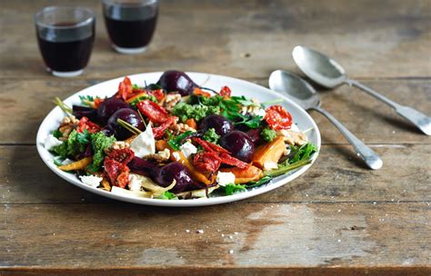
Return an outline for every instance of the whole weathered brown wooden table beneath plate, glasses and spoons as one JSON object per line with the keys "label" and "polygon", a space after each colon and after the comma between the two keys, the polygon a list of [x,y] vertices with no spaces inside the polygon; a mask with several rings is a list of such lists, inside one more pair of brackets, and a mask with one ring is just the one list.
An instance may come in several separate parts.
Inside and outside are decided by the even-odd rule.
{"label": "whole weathered brown wooden table beneath plate, glasses and spoons", "polygon": [[[32,16],[68,1],[0,2],[0,274],[429,275],[431,140],[386,105],[347,86],[324,106],[384,161],[370,171],[331,123],[304,176],[274,192],[205,208],[108,200],[64,182],[35,149],[52,108],[120,75],[179,69],[267,84],[297,72],[304,44],[389,98],[431,113],[431,2],[162,1],[147,53],[115,54],[98,1],[85,74],[44,71]],[[204,230],[203,233],[197,230]],[[232,253],[231,253],[232,252]]]}

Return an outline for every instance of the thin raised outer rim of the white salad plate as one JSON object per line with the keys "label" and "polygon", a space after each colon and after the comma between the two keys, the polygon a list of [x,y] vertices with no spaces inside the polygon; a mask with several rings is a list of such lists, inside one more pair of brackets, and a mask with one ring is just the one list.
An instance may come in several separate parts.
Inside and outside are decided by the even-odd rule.
{"label": "thin raised outer rim of the white salad plate", "polygon": [[[128,74],[127,76],[130,78],[136,78],[139,76],[143,76],[143,78],[145,78],[145,74],[163,74],[163,72],[146,72],[146,73],[139,73],[139,74]],[[130,203],[136,203],[136,204],[144,204],[144,205],[153,205],[153,206],[163,206],[163,207],[197,207],[197,206],[206,206],[206,205],[216,205],[216,204],[223,204],[223,203],[227,203],[227,202],[236,202],[236,201],[240,201],[240,200],[245,200],[247,198],[250,197],[254,197],[256,195],[259,194],[263,194],[266,192],[270,192],[273,191],[283,185],[286,185],[286,183],[288,182],[292,182],[293,180],[295,180],[297,177],[301,176],[302,174],[306,173],[306,171],[316,162],[316,159],[320,153],[320,149],[321,149],[321,136],[320,136],[320,131],[318,129],[318,126],[315,122],[315,120],[310,116],[309,113],[306,112],[306,110],[304,110],[301,106],[299,106],[298,104],[296,104],[295,102],[293,102],[292,100],[290,100],[289,98],[287,98],[285,95],[283,94],[279,94],[275,91],[270,90],[269,88],[260,85],[260,84],[255,84],[252,82],[248,82],[246,80],[243,79],[239,79],[239,78],[235,78],[235,77],[231,77],[231,76],[226,76],[226,75],[222,75],[222,74],[207,74],[207,73],[200,73],[200,72],[185,72],[185,74],[188,74],[192,79],[192,75],[206,75],[206,81],[208,81],[209,78],[211,78],[211,76],[215,76],[218,78],[225,78],[227,80],[231,80],[234,82],[239,82],[241,84],[247,84],[247,85],[256,85],[259,87],[259,89],[264,89],[266,91],[267,94],[273,94],[278,98],[282,98],[284,101],[286,101],[286,103],[294,105],[301,113],[303,113],[303,115],[306,117],[307,121],[309,121],[314,128],[314,131],[316,132],[316,146],[318,148],[317,153],[314,154],[311,163],[299,168],[295,173],[292,173],[288,176],[286,176],[286,178],[284,179],[280,179],[276,182],[273,182],[271,184],[265,185],[261,188],[256,188],[256,189],[252,189],[249,190],[247,192],[240,192],[240,193],[236,193],[233,195],[226,195],[226,196],[220,196],[220,197],[214,197],[214,198],[200,198],[200,199],[192,199],[192,200],[179,200],[179,201],[166,201],[166,200],[160,200],[160,199],[148,199],[148,198],[139,198],[139,197],[128,197],[125,195],[119,195],[119,194],[114,194],[112,192],[107,192],[105,190],[102,189],[97,189],[94,187],[91,187],[89,185],[86,185],[84,182],[81,182],[75,175],[73,175],[73,178],[71,178],[71,174],[70,173],[65,173],[61,170],[59,170],[55,164],[52,162],[52,160],[47,160],[44,156],[45,153],[51,154],[49,153],[47,150],[45,150],[45,146],[43,145],[43,141],[45,139],[45,137],[42,137],[43,135],[43,129],[44,129],[44,125],[46,123],[48,123],[50,120],[48,120],[51,116],[53,116],[53,113],[55,113],[56,110],[59,110],[60,108],[58,106],[55,106],[49,113],[47,113],[45,115],[44,120],[42,121],[42,123],[40,123],[39,128],[37,130],[37,134],[36,134],[36,149],[37,149],[37,153],[39,154],[40,158],[42,159],[42,161],[45,163],[45,165],[52,171],[54,172],[56,175],[60,176],[60,178],[62,178],[63,180],[65,180],[66,182],[72,183],[75,186],[84,189],[87,192],[92,192],[95,193],[97,195],[103,196],[103,197],[107,197],[109,199],[113,199],[116,201],[120,201],[120,202],[130,202]],[[84,89],[81,89],[71,95],[69,95],[67,98],[65,98],[65,101],[69,101],[72,98],[75,98],[76,96],[78,96],[79,94],[85,94],[85,91],[87,90],[91,90],[94,89],[95,86],[98,85],[102,85],[102,84],[106,84],[109,82],[115,82],[115,81],[121,81],[125,76],[119,76],[116,78],[112,78],[109,80],[105,80],[104,82],[100,82],[98,84],[93,84],[90,86],[85,87]],[[52,119],[51,119],[52,120]],[[52,155],[52,154],[51,154]]]}

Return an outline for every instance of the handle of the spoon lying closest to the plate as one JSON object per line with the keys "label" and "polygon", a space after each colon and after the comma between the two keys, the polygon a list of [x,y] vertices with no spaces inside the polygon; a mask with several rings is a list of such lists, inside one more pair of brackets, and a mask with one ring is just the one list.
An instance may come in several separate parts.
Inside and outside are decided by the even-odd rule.
{"label": "handle of the spoon lying closest to the plate", "polygon": [[346,128],[346,126],[336,120],[336,117],[334,117],[331,113],[328,113],[323,108],[315,107],[313,109],[319,113],[324,114],[326,118],[331,121],[331,123],[334,123],[336,125],[336,128],[346,137],[347,141],[353,145],[357,155],[364,160],[364,162],[370,169],[378,170],[382,167],[383,162],[380,157],[378,157],[378,155],[373,152],[373,150],[371,150],[365,143],[363,143],[353,133],[351,133]]}

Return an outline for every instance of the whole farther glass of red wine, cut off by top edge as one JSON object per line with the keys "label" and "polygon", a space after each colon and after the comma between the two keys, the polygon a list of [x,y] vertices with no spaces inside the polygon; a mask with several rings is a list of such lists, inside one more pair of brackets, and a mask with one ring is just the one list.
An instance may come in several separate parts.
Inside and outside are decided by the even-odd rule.
{"label": "whole farther glass of red wine, cut off by top edge", "polygon": [[121,54],[144,53],[155,32],[158,0],[103,0],[111,45]]}

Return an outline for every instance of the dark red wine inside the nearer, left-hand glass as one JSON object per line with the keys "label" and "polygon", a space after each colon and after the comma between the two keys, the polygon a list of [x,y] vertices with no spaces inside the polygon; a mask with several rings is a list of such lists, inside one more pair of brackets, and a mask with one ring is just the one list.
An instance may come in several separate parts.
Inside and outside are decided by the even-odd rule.
{"label": "dark red wine inside the nearer, left-hand glass", "polygon": [[58,72],[73,72],[85,68],[90,59],[94,41],[94,33],[84,39],[70,42],[48,41],[37,35],[37,42],[46,66]]}

